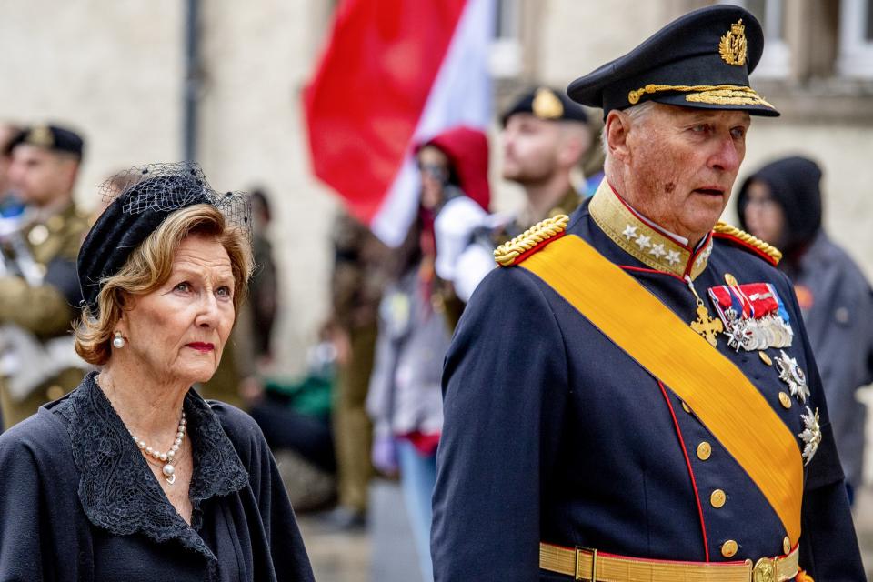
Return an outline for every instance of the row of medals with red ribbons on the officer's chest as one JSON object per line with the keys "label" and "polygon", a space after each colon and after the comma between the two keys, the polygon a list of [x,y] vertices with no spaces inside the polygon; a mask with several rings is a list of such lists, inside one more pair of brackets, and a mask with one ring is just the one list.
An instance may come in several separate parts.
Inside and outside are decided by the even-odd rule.
{"label": "row of medals with red ribbons on the officer's chest", "polygon": [[737,351],[791,346],[794,331],[774,286],[722,285],[710,287],[708,294],[725,326],[728,346]]}

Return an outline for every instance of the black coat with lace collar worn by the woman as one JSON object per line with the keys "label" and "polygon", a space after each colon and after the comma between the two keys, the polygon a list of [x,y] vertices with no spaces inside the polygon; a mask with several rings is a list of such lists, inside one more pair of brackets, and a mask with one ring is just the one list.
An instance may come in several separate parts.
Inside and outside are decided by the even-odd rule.
{"label": "black coat with lace collar worn by the woman", "polygon": [[186,396],[189,527],[94,376],[0,436],[0,581],[314,579],[249,416]]}

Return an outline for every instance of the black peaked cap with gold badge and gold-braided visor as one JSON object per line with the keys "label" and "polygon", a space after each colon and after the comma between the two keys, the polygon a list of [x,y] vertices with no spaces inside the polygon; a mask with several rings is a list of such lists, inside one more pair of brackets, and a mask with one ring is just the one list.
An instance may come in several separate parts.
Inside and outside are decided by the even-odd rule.
{"label": "black peaked cap with gold badge and gold-braided visor", "polygon": [[613,109],[646,100],[700,109],[779,112],[748,86],[764,50],[755,16],[738,6],[707,6],[681,16],[642,45],[567,87],[573,100]]}

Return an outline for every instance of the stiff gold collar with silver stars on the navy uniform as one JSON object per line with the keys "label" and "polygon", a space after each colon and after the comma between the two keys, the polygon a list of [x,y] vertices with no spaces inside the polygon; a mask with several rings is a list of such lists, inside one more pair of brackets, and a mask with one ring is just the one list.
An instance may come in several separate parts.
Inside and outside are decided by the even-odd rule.
{"label": "stiff gold collar with silver stars on the navy uniform", "polygon": [[653,269],[680,277],[690,276],[694,280],[707,268],[712,253],[711,234],[697,245],[697,249],[681,244],[649,226],[627,206],[606,179],[591,198],[588,211],[613,242]]}

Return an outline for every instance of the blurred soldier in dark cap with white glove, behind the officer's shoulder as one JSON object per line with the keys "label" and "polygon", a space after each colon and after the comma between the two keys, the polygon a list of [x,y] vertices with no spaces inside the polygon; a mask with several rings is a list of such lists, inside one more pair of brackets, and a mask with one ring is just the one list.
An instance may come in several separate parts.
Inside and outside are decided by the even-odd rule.
{"label": "blurred soldier in dark cap with white glove, behind the officer's shoulder", "polygon": [[603,170],[603,156],[590,154],[597,148],[591,147],[593,131],[584,108],[563,92],[537,87],[521,95],[501,123],[503,177],[524,188],[525,206],[516,213],[487,215],[469,202],[449,204],[437,217],[437,274],[464,302],[494,268],[495,247],[544,218],[576,210],[589,194],[579,176],[583,163],[594,179]]}

